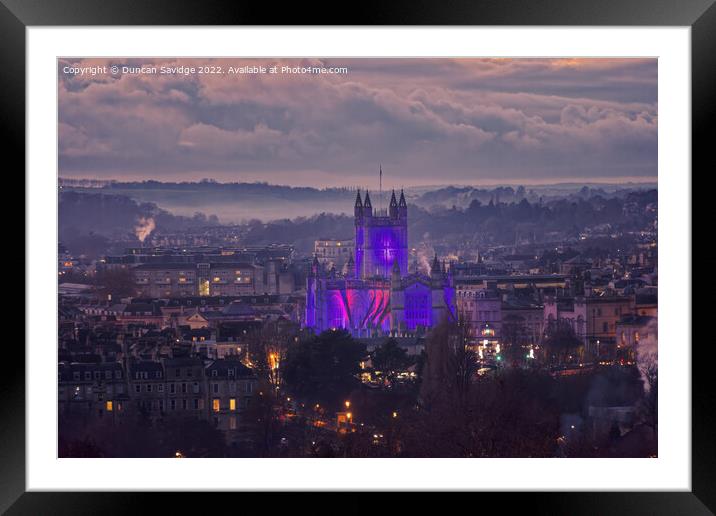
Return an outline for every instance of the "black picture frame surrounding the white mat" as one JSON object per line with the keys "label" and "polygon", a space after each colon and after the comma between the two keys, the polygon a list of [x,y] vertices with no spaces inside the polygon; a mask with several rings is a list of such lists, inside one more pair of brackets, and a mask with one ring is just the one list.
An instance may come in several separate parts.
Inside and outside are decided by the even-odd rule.
{"label": "black picture frame surrounding the white mat", "polygon": [[[6,131],[6,160],[14,157],[24,170],[25,151],[25,29],[40,25],[605,25],[691,27],[692,71],[692,170],[701,175],[716,170],[713,129],[716,120],[716,5],[714,0],[501,0],[450,2],[360,2],[334,10],[312,12],[305,4],[278,8],[269,3],[212,0],[0,0],[0,116]],[[341,12],[350,14],[341,15]],[[565,48],[568,52],[568,48]],[[692,172],[692,182],[697,177]],[[24,185],[24,182],[22,183]],[[24,186],[22,186],[24,188]],[[692,184],[692,242],[709,235],[709,214],[697,217],[697,209],[709,205],[710,191]],[[706,238],[705,240],[708,240]],[[693,246],[692,246],[693,247]],[[24,253],[24,251],[22,251]],[[709,300],[697,295],[713,292],[716,280],[709,273],[716,266],[713,255],[693,254],[692,270],[699,274],[692,289],[692,320],[707,320]],[[27,274],[27,271],[26,271]],[[684,277],[691,284],[691,277]],[[668,294],[666,294],[668,295]],[[527,502],[538,514],[713,514],[716,511],[716,435],[714,387],[709,377],[714,346],[692,337],[692,490],[644,493],[530,493],[479,494],[480,505],[499,496],[501,510]],[[682,343],[689,344],[688,335]],[[103,514],[145,512],[147,496],[135,493],[37,493],[25,492],[25,350],[4,346],[6,367],[0,375],[0,512],[7,514]],[[161,496],[164,512],[186,507],[186,496]],[[212,497],[216,495],[211,495]],[[245,496],[245,495],[242,495]],[[226,496],[221,500],[225,500]],[[295,499],[277,497],[273,502]],[[292,500],[292,501],[290,501]],[[421,503],[414,496],[401,502],[402,510]],[[220,501],[212,498],[212,504]],[[206,506],[205,506],[206,508]]]}

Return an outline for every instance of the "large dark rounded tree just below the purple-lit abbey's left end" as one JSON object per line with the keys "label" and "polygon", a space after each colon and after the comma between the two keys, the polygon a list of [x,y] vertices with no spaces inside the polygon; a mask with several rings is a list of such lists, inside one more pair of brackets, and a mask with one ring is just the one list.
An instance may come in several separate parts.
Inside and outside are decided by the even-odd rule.
{"label": "large dark rounded tree just below the purple-lit abbey's left end", "polygon": [[337,408],[360,386],[360,363],[365,358],[365,344],[344,330],[328,330],[291,346],[282,376],[295,398]]}

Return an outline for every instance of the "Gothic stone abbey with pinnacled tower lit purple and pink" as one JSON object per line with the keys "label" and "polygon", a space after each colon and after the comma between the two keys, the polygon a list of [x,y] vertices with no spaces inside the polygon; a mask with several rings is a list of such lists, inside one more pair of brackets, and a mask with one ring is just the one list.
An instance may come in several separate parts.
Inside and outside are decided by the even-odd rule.
{"label": "Gothic stone abbey with pinnacled tower lit purple and pink", "polygon": [[343,271],[314,258],[306,280],[305,325],[316,332],[344,329],[354,337],[419,335],[455,317],[452,274],[437,256],[428,273],[408,270],[408,206],[395,191],[387,210],[360,191],[355,207],[355,256]]}

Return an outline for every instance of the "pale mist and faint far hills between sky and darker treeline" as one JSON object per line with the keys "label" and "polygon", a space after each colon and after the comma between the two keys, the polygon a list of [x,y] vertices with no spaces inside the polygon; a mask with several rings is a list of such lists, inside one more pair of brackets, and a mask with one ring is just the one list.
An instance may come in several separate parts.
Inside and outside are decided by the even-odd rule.
{"label": "pale mist and faint far hills between sky and darker treeline", "polygon": [[[268,183],[219,183],[210,179],[198,182],[102,182],[87,187],[82,180],[60,180],[61,191],[121,195],[138,203],[156,205],[173,215],[194,217],[197,212],[216,215],[221,223],[250,220],[272,221],[310,217],[318,213],[352,214],[356,187],[296,187]],[[376,185],[377,186],[377,185]],[[631,191],[656,188],[656,183],[565,183],[525,186],[426,186],[406,188],[409,203],[422,208],[465,208],[477,199],[488,203],[549,201],[555,198],[584,198],[600,195],[623,197]],[[374,207],[387,206],[390,189],[371,189]]]}

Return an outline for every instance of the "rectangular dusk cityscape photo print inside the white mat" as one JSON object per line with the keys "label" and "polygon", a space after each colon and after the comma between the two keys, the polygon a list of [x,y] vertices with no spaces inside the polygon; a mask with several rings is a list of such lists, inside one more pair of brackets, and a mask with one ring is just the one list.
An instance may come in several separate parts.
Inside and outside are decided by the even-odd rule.
{"label": "rectangular dusk cityscape photo print inside the white mat", "polygon": [[60,457],[658,455],[656,60],[197,61],[58,60]]}

